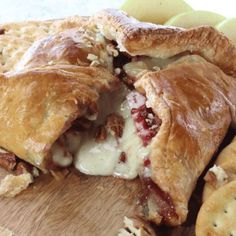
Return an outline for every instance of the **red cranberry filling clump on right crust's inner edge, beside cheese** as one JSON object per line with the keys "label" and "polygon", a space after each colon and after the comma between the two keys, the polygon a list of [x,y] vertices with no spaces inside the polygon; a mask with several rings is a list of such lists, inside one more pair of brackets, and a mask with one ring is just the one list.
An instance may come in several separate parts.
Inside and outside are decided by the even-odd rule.
{"label": "red cranberry filling clump on right crust's inner edge, beside cheese", "polygon": [[142,139],[143,145],[147,146],[157,134],[161,120],[153,113],[151,108],[146,107],[146,98],[140,93],[136,91],[129,93],[127,101],[137,134]]}

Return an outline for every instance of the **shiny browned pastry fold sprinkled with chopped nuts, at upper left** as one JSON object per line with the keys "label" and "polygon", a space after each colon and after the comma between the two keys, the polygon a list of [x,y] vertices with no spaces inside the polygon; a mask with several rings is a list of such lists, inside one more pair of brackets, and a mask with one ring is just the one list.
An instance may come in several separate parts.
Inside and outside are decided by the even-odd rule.
{"label": "shiny browned pastry fold sprinkled with chopped nuts, at upper left", "polygon": [[112,56],[106,49],[108,43],[94,27],[69,29],[36,41],[23,55],[15,69],[46,65],[97,65],[112,68]]}

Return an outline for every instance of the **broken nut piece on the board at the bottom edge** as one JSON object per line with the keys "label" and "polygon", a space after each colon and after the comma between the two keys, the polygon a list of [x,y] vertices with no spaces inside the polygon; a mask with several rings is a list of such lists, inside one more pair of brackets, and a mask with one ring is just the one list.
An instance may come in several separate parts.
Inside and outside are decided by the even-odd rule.
{"label": "broken nut piece on the board at the bottom edge", "polygon": [[118,236],[155,236],[151,226],[142,219],[124,217],[125,227],[119,230]]}

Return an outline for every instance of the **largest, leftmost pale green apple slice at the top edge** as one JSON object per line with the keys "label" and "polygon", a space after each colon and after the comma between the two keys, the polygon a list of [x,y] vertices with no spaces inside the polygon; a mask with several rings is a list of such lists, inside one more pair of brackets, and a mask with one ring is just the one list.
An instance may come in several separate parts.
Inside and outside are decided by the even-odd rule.
{"label": "largest, leftmost pale green apple slice at the top edge", "polygon": [[121,10],[140,21],[163,24],[172,16],[193,9],[184,0],[126,0]]}

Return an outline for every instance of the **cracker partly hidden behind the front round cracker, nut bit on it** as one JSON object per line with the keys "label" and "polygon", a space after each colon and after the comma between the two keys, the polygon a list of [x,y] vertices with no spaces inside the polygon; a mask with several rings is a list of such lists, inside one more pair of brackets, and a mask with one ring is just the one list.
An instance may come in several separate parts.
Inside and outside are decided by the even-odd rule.
{"label": "cracker partly hidden behind the front round cracker, nut bit on it", "polygon": [[223,162],[220,166],[228,176],[228,179],[225,183],[219,186],[212,186],[209,182],[205,183],[202,195],[202,201],[205,202],[207,198],[211,196],[211,194],[216,191],[218,188],[222,187],[223,185],[236,180],[236,158],[232,158],[227,162]]}

